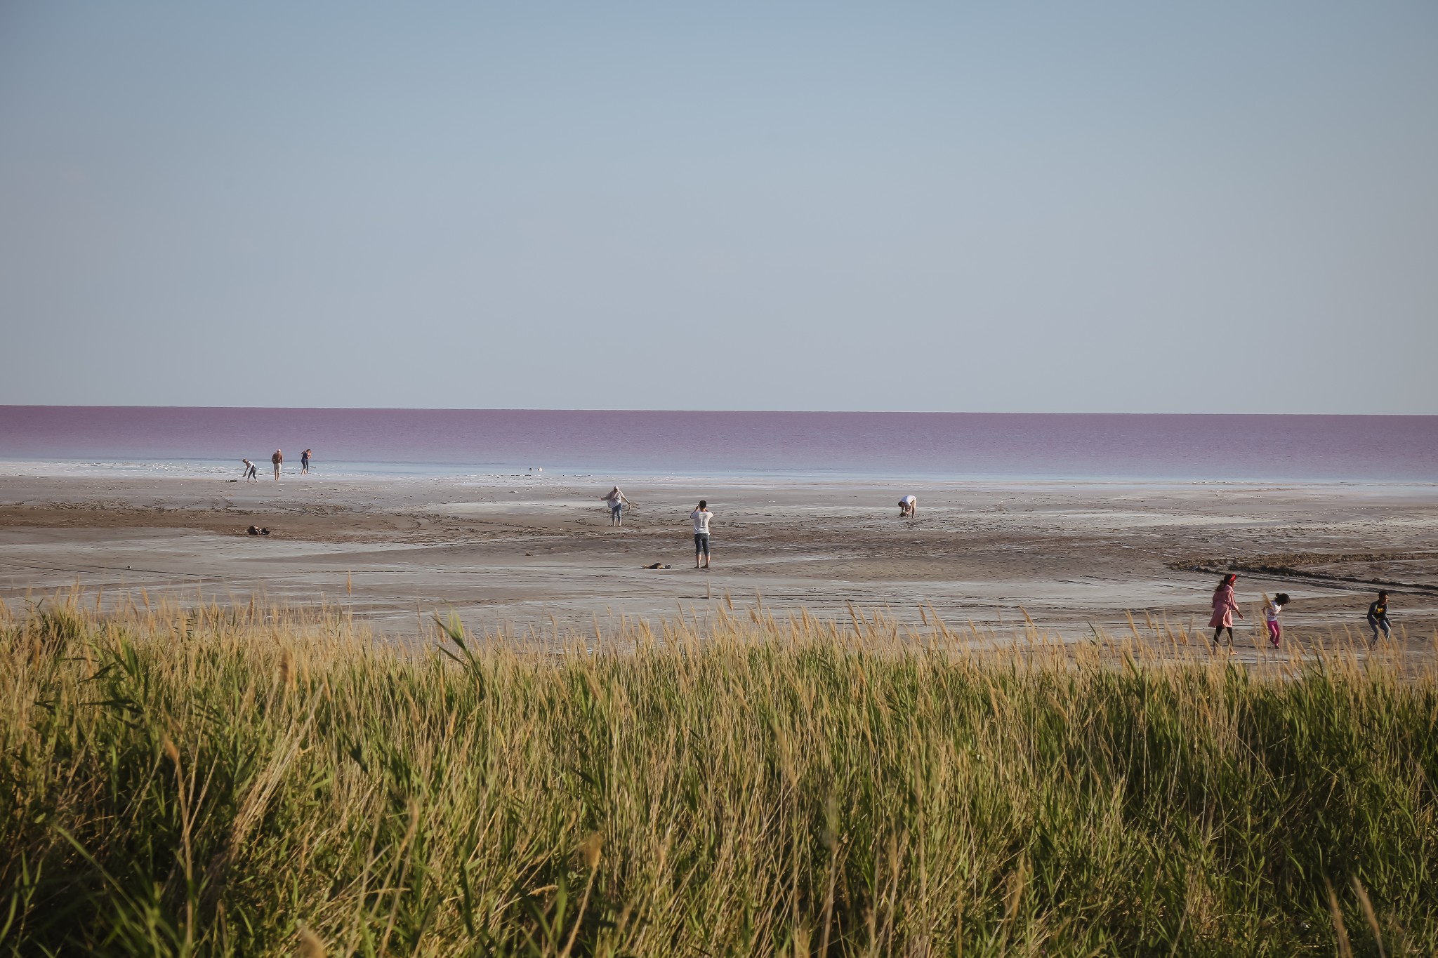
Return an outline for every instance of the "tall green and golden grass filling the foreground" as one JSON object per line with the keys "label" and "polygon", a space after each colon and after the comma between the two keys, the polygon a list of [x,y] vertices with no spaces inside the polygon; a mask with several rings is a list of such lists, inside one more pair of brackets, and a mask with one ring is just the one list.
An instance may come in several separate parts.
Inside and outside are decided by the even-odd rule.
{"label": "tall green and golden grass filling the foreground", "polygon": [[926,623],[0,610],[0,949],[1438,954],[1431,666]]}

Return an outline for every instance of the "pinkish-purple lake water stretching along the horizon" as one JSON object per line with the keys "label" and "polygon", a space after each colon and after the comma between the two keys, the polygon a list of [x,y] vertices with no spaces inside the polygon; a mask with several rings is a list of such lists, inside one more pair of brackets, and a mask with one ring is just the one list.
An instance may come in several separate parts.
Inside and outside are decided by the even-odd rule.
{"label": "pinkish-purple lake water stretching along the horizon", "polygon": [[1438,481],[1438,417],[0,406],[0,460],[316,470]]}

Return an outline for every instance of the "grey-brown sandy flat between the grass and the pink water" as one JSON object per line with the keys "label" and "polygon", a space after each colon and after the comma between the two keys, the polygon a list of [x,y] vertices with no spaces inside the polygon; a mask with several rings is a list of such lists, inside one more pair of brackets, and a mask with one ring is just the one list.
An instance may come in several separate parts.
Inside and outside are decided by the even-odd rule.
{"label": "grey-brown sandy flat between the grass and the pink water", "polygon": [[[607,477],[56,477],[0,467],[0,596],[76,582],[105,602],[139,589],[309,602],[324,595],[394,635],[453,609],[473,626],[664,616],[762,596],[847,616],[1021,622],[1087,635],[1127,610],[1202,625],[1215,576],[1172,567],[1241,559],[1248,626],[1261,590],[1288,592],[1288,628],[1363,629],[1369,583],[1395,586],[1411,641],[1438,626],[1438,485],[631,480],[610,529]],[[903,521],[899,496],[919,497]],[[695,572],[687,513],[716,513],[715,569]],[[269,537],[244,534],[267,526]],[[673,566],[650,572],[653,562]],[[1322,577],[1329,576],[1329,577]],[[1346,582],[1333,576],[1346,576]],[[348,586],[348,590],[347,590]]]}

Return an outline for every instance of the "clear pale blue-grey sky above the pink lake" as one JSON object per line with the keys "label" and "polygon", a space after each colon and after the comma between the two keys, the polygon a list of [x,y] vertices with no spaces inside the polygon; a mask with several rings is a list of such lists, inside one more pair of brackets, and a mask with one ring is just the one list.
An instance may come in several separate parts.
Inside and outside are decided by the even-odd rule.
{"label": "clear pale blue-grey sky above the pink lake", "polygon": [[1438,414],[1438,4],[0,0],[0,404]]}

